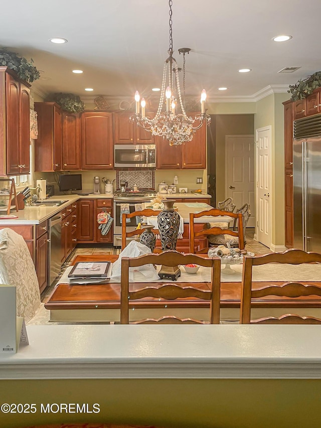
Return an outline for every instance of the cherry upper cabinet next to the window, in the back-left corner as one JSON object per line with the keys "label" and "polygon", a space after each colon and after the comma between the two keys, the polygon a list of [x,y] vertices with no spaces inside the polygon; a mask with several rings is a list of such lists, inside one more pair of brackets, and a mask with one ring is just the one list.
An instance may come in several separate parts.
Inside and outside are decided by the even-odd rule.
{"label": "cherry upper cabinet next to the window, in the back-left corner", "polygon": [[35,171],[62,169],[62,113],[55,102],[35,102],[38,115],[38,139],[35,144]]}

